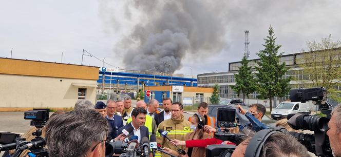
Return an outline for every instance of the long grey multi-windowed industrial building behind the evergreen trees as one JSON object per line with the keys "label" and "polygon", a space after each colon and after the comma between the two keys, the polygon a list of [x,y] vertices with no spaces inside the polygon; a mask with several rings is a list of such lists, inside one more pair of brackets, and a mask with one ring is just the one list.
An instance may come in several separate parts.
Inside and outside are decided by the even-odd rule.
{"label": "long grey multi-windowed industrial building behind the evergreen trees", "polygon": [[[337,48],[335,51],[341,51],[341,48]],[[324,51],[322,50],[316,53],[324,53]],[[290,88],[299,88],[309,82],[307,81],[308,76],[304,74],[303,69],[299,66],[301,62],[299,58],[302,57],[304,57],[304,52],[282,55],[280,57],[279,63],[285,62],[286,66],[289,68],[283,77],[291,76],[293,78],[292,81],[290,81]],[[253,73],[257,72],[254,67],[258,66],[256,62],[260,61],[260,59],[258,58],[249,61],[249,66],[252,67],[251,70],[253,70]],[[231,86],[236,85],[234,74],[238,73],[240,66],[241,61],[232,62],[229,63],[229,71],[198,74],[198,87],[213,87],[217,84],[219,85],[219,96],[221,100],[236,98],[238,97],[237,93],[231,89]],[[334,89],[341,90],[341,86],[334,86]],[[245,96],[245,104],[262,103],[264,105],[269,105],[269,100],[259,100],[257,99],[257,95],[257,92],[249,94],[250,99],[247,99]],[[242,98],[242,94],[239,95],[239,98]],[[285,100],[289,100],[289,93],[285,97],[277,97],[277,100],[273,101],[273,106],[276,106],[276,104]]]}

